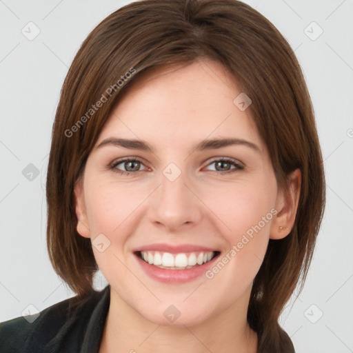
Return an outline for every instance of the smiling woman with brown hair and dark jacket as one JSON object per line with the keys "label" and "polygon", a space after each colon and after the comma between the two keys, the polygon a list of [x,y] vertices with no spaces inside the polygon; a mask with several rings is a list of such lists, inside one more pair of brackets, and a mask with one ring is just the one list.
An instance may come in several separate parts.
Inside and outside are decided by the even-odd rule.
{"label": "smiling woman with brown hair and dark jacket", "polygon": [[2,323],[1,352],[294,352],[278,319],[325,179],[287,41],[235,0],[110,14],[63,84],[47,202],[50,260],[77,296]]}

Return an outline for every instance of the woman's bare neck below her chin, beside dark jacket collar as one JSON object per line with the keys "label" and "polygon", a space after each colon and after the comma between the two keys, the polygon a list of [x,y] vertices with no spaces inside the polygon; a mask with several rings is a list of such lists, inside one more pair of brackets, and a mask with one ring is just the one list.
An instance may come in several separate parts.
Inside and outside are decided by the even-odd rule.
{"label": "woman's bare neck below her chin, beside dark jacket collar", "polygon": [[[247,309],[245,307],[245,309]],[[99,353],[256,353],[257,335],[236,303],[198,325],[158,325],[145,319],[111,288]]]}

